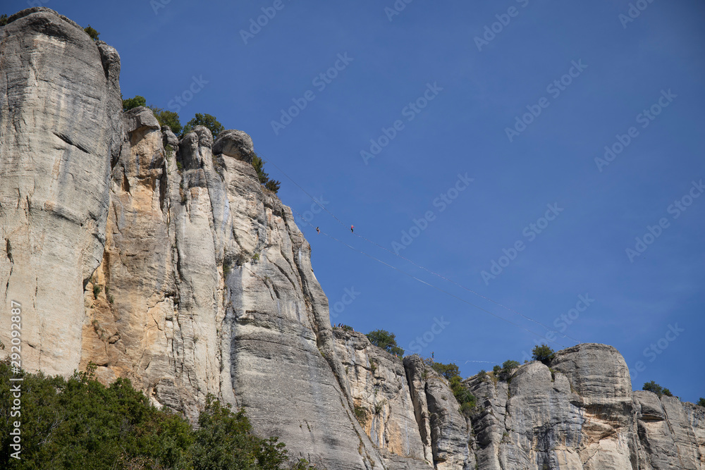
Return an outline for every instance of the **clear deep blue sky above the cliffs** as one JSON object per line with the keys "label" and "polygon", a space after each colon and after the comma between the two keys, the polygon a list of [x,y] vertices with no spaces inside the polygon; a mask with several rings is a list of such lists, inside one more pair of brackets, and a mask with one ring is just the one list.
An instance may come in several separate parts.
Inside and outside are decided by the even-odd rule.
{"label": "clear deep blue sky above the cliffs", "polygon": [[[705,396],[705,196],[692,183],[705,180],[705,5],[637,3],[646,8],[632,10],[635,18],[629,1],[414,0],[394,15],[385,11],[393,0],[44,6],[90,23],[118,49],[125,98],[140,94],[167,109],[175,97],[189,98],[182,123],[210,113],[248,132],[260,155],[356,233],[564,330],[573,339],[558,335],[560,345],[617,347],[636,389],[655,380],[694,401]],[[26,5],[8,1],[4,10]],[[241,30],[262,8],[273,18],[245,44]],[[317,79],[336,65],[342,70]],[[202,89],[190,97],[194,77]],[[312,101],[275,132],[281,110],[305,96]],[[517,124],[530,111],[538,116]],[[382,128],[391,141],[379,142]],[[365,161],[360,152],[371,150],[371,139],[385,146]],[[596,162],[606,146],[620,153]],[[314,226],[520,327],[298,221],[331,313],[349,299],[346,288],[356,292],[334,323],[390,330],[407,352],[433,351],[465,376],[521,361],[541,340],[523,328],[546,334],[351,235],[325,212],[307,214],[312,200],[271,164],[266,170],[281,180],[283,202],[313,216]],[[451,190],[466,173],[472,182]],[[455,199],[436,200],[441,194]],[[541,220],[548,204],[557,204],[552,221]],[[428,211],[432,220],[411,230],[418,236],[410,245],[393,245]],[[636,237],[649,244],[637,246]],[[514,256],[517,242],[523,249]],[[503,249],[515,259],[501,259]],[[493,261],[501,273],[483,278]],[[580,295],[594,301],[571,312]],[[448,324],[434,333],[434,319]],[[424,333],[433,337],[428,345],[412,344]]]}

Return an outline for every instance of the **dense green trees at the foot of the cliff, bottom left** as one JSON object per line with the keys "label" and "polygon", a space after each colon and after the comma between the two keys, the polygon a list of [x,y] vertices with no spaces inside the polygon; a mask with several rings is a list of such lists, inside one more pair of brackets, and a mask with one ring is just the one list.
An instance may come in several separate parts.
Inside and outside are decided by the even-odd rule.
{"label": "dense green trees at the foot of the cliff, bottom left", "polygon": [[[23,373],[11,382],[8,361],[0,362],[0,402],[13,403],[20,383],[20,416],[0,407],[0,468],[4,469],[278,469],[293,462],[283,443],[252,433],[240,409],[232,412],[209,397],[193,430],[183,416],[159,411],[129,380],[109,387],[94,379],[94,366],[68,380]],[[11,457],[10,431],[21,421],[21,459]],[[289,468],[289,467],[287,467]]]}

